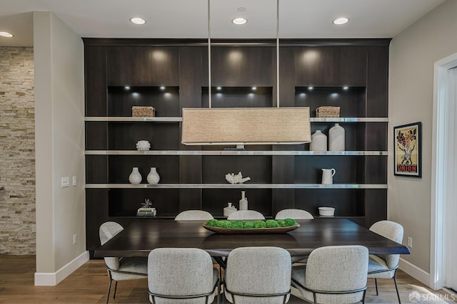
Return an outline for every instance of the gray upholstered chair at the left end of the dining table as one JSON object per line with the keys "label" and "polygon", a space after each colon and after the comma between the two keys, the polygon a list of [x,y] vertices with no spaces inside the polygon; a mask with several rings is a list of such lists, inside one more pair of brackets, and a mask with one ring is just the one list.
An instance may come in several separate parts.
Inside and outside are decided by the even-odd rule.
{"label": "gray upholstered chair at the left end of the dining table", "polygon": [[[116,234],[119,234],[124,228],[115,221],[107,221],[101,224],[99,229],[100,243],[103,245]],[[146,278],[148,275],[147,258],[131,257],[131,258],[104,258],[106,268],[109,274],[108,293],[106,294],[106,303],[109,302],[109,293],[111,292],[111,283],[116,281],[114,285],[114,295],[116,298],[116,290],[118,281],[134,280],[138,278]]]}

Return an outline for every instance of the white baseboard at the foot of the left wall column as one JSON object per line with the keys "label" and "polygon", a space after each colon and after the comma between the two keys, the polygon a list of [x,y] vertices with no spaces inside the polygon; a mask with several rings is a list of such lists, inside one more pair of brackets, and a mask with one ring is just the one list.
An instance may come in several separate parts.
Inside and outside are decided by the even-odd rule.
{"label": "white baseboard at the foot of the left wall column", "polygon": [[55,273],[35,273],[35,286],[55,286],[87,261],[89,261],[89,251],[84,251]]}

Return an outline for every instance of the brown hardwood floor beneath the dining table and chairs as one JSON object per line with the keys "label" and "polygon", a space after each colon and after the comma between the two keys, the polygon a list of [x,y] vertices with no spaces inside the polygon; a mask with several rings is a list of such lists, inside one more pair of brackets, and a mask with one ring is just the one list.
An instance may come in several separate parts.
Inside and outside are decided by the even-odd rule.
{"label": "brown hardwood floor beneath the dining table and chairs", "polygon": [[[109,279],[103,260],[87,262],[59,285],[52,287],[34,286],[34,272],[35,256],[0,256],[0,303],[105,303]],[[398,271],[397,282],[402,303],[411,303],[408,295],[412,291],[424,297],[427,294],[437,295],[437,299],[443,297],[442,293],[426,288],[402,271]],[[376,296],[374,281],[368,280],[366,303],[398,303],[393,280],[378,280],[378,288],[379,296]],[[119,282],[116,299],[110,298],[109,303],[149,303],[147,279]],[[289,303],[305,302],[292,297]],[[421,303],[456,302],[441,300]]]}

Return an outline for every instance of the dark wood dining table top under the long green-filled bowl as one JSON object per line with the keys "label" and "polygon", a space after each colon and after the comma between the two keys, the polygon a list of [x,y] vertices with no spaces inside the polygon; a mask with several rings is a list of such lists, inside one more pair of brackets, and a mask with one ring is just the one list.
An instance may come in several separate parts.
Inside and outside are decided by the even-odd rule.
{"label": "dark wood dining table top under the long green-filled bowl", "polygon": [[144,219],[96,248],[94,257],[148,256],[154,248],[201,248],[211,256],[228,256],[230,251],[246,246],[285,248],[291,256],[306,256],[322,246],[362,245],[371,254],[409,254],[408,247],[384,238],[349,219],[316,218],[298,220],[300,227],[284,234],[215,234],[203,221]]}

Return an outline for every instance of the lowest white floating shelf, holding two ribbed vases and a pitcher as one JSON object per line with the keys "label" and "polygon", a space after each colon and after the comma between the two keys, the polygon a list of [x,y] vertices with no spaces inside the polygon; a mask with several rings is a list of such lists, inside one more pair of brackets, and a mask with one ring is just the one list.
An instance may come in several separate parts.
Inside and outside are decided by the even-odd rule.
{"label": "lowest white floating shelf, holding two ribbed vases and a pitcher", "polygon": [[86,184],[86,188],[129,189],[387,189],[387,184]]}

